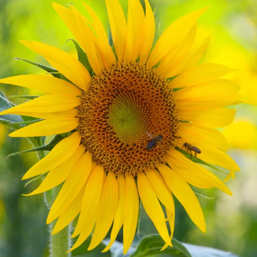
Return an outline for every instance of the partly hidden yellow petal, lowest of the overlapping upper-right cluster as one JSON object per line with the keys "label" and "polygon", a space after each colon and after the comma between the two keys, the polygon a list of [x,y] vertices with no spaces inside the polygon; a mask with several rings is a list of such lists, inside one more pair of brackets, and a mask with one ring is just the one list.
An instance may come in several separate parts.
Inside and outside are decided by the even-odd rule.
{"label": "partly hidden yellow petal, lowest of the overlapping upper-right cluster", "polygon": [[190,69],[195,66],[203,57],[207,47],[209,46],[211,37],[208,36],[200,44],[193,46],[187,57],[180,58],[177,62],[170,67],[170,77],[176,76],[182,73],[183,70]]}

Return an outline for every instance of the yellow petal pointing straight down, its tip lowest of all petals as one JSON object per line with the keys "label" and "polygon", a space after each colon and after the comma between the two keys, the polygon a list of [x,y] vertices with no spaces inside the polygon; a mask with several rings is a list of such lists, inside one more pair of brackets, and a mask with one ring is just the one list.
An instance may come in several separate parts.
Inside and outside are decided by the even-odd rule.
{"label": "yellow petal pointing straight down, its tip lowest of all petals", "polygon": [[139,198],[135,180],[131,174],[125,175],[124,183],[124,224],[123,254],[125,255],[133,241],[136,231]]}

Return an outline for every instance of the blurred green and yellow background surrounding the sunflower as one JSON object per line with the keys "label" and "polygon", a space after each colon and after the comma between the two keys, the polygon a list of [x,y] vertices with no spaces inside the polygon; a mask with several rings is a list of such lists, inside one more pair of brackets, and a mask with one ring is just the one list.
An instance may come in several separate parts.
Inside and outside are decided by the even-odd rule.
{"label": "blurred green and yellow background surrounding the sunflower", "polygon": [[[104,0],[86,1],[94,8],[108,31]],[[199,191],[215,199],[199,198],[204,211],[207,233],[201,233],[176,201],[174,237],[182,242],[215,247],[240,256],[257,255],[257,3],[255,0],[149,0],[155,13],[156,27],[163,32],[178,17],[198,8],[211,6],[198,21],[197,38],[212,36],[202,61],[218,62],[238,69],[228,78],[241,86],[244,101],[236,106],[235,121],[222,132],[241,171],[227,182],[234,196],[218,190]],[[68,0],[58,0],[68,4]],[[86,16],[81,2],[72,1]],[[127,1],[121,1],[125,13]],[[143,3],[143,1],[142,1]],[[144,5],[144,4],[143,4]],[[176,36],[176,35],[174,35]],[[48,65],[45,60],[20,44],[19,40],[41,39],[76,55],[71,33],[51,7],[50,0],[0,0],[0,78],[21,74],[44,74],[44,71],[15,57]],[[0,85],[9,95],[35,95],[21,87]],[[14,100],[16,103],[22,101]],[[252,105],[250,105],[252,104]],[[255,105],[254,105],[255,104]],[[40,181],[24,188],[21,177],[36,162],[35,153],[5,157],[30,148],[24,139],[9,138],[8,129],[0,125],[0,256],[48,256],[48,209],[43,194],[25,197]],[[217,174],[221,179],[224,174]],[[140,237],[156,233],[142,211]],[[118,240],[122,241],[122,235]],[[81,249],[83,246],[81,247]],[[82,251],[82,250],[81,250]],[[99,253],[99,251],[97,252]],[[91,252],[91,256],[98,256]],[[108,256],[108,253],[106,254]],[[84,255],[80,255],[84,256]],[[88,256],[88,255],[87,255]]]}

